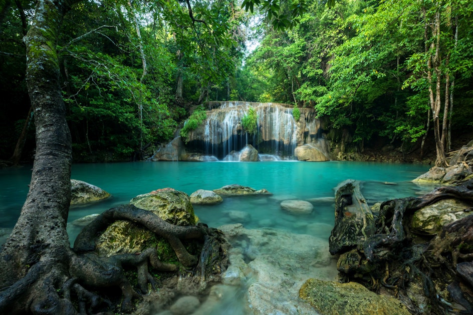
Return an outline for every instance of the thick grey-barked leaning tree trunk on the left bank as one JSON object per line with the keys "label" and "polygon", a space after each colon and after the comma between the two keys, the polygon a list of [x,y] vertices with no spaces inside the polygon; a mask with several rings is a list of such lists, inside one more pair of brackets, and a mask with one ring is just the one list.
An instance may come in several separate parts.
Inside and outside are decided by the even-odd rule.
{"label": "thick grey-barked leaning tree trunk on the left bank", "polygon": [[[0,312],[16,299],[24,311],[54,308],[49,292],[67,269],[70,257],[66,221],[71,199],[71,135],[59,85],[56,52],[64,4],[38,0],[26,36],[27,83],[36,124],[33,173],[21,216],[0,258]],[[51,268],[54,266],[54,268]],[[39,278],[44,281],[38,281]],[[2,310],[3,309],[3,310]],[[9,311],[12,309],[9,308]],[[56,309],[58,313],[68,309]]]}

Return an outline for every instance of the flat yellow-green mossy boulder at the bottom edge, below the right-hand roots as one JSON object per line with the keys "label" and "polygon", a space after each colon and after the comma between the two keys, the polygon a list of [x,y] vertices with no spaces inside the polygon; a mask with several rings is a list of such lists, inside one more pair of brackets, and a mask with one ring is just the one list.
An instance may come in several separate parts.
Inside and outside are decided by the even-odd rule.
{"label": "flat yellow-green mossy boulder at the bottom edge, below the right-hand roots", "polygon": [[299,296],[317,312],[331,315],[410,315],[397,299],[378,295],[357,282],[307,280]]}

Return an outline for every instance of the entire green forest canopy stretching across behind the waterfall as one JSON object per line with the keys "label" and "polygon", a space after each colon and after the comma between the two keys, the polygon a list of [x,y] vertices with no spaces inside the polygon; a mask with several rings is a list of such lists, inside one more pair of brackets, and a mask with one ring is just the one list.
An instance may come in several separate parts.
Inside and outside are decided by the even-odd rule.
{"label": "entire green forest canopy stretching across behind the waterfall", "polygon": [[[379,138],[448,150],[472,124],[473,4],[328,2],[72,5],[57,45],[74,160],[140,159],[209,100],[314,107],[334,142],[347,130],[358,150]],[[23,36],[35,2],[0,6],[0,159],[31,160]]]}

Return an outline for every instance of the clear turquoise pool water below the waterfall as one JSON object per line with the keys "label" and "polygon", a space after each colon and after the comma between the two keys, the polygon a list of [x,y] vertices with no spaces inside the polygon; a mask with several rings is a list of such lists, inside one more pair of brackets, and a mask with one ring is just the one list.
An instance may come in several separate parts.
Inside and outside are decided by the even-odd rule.
{"label": "clear turquoise pool water below the waterfall", "polygon": [[[92,205],[72,207],[69,222],[92,213],[100,213],[118,204],[128,203],[138,194],[172,187],[191,194],[197,189],[216,189],[238,183],[273,193],[264,197],[228,197],[213,206],[194,206],[201,221],[211,225],[232,223],[228,211],[244,211],[247,228],[272,226],[305,233],[300,221],[333,225],[333,204],[313,201],[314,212],[298,217],[280,209],[286,199],[333,197],[334,187],[351,178],[366,181],[363,194],[368,202],[383,201],[418,193],[431,187],[418,186],[410,180],[428,170],[428,165],[376,162],[130,162],[74,164],[72,178],[97,185],[112,197]],[[20,215],[28,193],[31,167],[0,169],[0,227],[11,228]],[[385,184],[384,182],[396,183]],[[232,215],[235,216],[235,213]],[[78,230],[71,229],[74,238]],[[319,235],[317,235],[319,236]],[[321,235],[324,236],[324,235]]]}

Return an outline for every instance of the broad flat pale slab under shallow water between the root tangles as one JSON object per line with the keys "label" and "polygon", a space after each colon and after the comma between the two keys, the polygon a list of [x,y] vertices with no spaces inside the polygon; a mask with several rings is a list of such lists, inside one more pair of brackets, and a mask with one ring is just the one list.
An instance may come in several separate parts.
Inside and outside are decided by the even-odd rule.
{"label": "broad flat pale slab under shallow water between the root tangles", "polygon": [[298,292],[310,277],[337,277],[326,239],[274,228],[246,229],[242,224],[219,229],[233,245],[223,283],[251,283],[243,298],[248,302],[248,313],[314,314],[314,309],[298,298]]}

